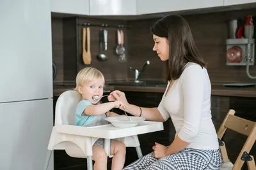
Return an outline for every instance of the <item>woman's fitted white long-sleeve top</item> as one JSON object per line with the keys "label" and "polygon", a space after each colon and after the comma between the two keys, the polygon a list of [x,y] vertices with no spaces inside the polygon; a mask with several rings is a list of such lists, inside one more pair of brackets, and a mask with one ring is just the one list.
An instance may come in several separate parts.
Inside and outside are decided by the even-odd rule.
{"label": "woman's fitted white long-sleeve top", "polygon": [[[168,82],[166,91],[170,85]],[[186,64],[179,79],[164,92],[158,110],[164,120],[172,119],[176,135],[189,144],[187,148],[219,148],[211,115],[211,81],[205,68]]]}

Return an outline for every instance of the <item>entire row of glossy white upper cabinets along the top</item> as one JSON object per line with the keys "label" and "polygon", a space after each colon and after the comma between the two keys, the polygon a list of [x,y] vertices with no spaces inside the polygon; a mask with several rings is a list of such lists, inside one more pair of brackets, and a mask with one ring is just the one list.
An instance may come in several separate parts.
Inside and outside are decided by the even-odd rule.
{"label": "entire row of glossy white upper cabinets along the top", "polygon": [[75,15],[143,15],[256,3],[256,0],[51,0],[51,11]]}

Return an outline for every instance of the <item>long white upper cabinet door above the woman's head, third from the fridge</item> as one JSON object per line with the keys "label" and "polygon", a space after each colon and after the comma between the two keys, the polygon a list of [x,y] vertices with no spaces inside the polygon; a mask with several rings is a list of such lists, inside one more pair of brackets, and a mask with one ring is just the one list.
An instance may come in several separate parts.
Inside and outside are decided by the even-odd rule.
{"label": "long white upper cabinet door above the woman's head, third from the fridge", "polygon": [[[230,0],[233,1],[233,0]],[[223,6],[224,0],[137,0],[137,15],[170,11],[196,10]]]}

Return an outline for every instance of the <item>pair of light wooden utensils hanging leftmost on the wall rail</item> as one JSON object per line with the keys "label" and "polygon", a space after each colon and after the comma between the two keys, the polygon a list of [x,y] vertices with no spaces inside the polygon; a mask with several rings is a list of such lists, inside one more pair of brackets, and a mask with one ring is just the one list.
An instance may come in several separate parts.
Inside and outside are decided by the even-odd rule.
{"label": "pair of light wooden utensils hanging leftmost on the wall rail", "polygon": [[[86,35],[87,34],[87,35]],[[86,51],[86,36],[87,36],[87,51]],[[91,64],[92,57],[90,52],[90,28],[83,28],[83,62],[84,64]]]}

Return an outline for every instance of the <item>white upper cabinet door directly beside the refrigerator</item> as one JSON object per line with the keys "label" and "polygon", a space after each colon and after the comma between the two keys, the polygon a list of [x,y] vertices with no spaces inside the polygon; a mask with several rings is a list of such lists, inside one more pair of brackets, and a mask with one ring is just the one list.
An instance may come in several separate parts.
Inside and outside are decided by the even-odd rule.
{"label": "white upper cabinet door directly beside the refrigerator", "polygon": [[90,0],[51,0],[51,12],[89,15]]}

